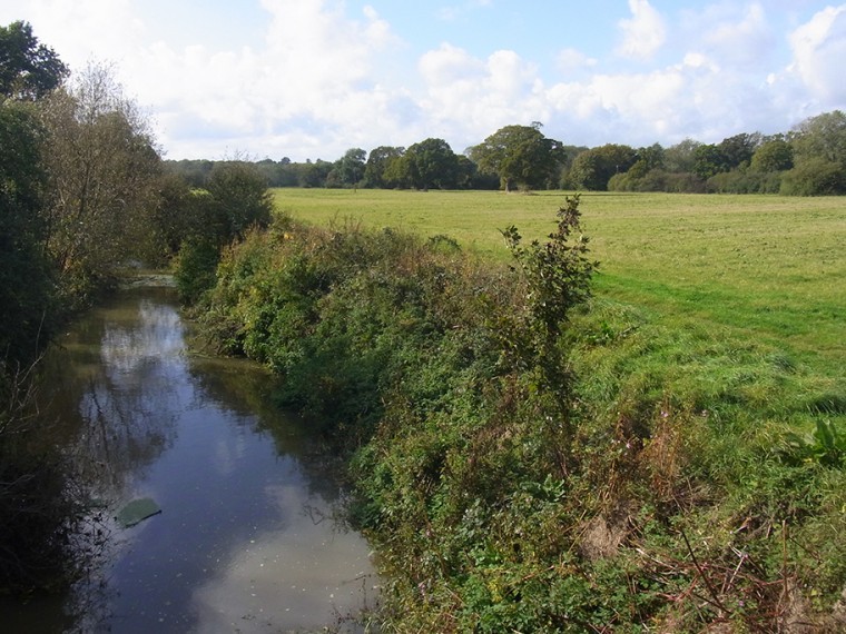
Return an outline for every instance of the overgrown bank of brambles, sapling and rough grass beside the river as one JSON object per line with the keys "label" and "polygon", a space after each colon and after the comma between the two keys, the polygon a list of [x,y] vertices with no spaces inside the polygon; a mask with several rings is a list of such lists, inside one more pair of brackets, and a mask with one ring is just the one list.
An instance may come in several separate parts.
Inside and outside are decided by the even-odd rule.
{"label": "overgrown bank of brambles, sapling and rough grass beside the river", "polygon": [[558,219],[503,231],[509,268],[279,219],[199,304],[350,448],[385,631],[836,631],[844,386],[590,300],[576,201]]}

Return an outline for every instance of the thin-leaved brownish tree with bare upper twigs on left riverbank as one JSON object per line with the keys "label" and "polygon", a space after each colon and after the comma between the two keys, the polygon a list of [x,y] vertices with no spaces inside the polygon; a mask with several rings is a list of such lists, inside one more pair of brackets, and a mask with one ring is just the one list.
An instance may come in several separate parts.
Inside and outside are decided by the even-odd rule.
{"label": "thin-leaved brownish tree with bare upper twigs on left riverbank", "polygon": [[88,67],[40,110],[52,194],[47,248],[66,299],[85,303],[144,242],[160,159],[147,120],[105,66]]}

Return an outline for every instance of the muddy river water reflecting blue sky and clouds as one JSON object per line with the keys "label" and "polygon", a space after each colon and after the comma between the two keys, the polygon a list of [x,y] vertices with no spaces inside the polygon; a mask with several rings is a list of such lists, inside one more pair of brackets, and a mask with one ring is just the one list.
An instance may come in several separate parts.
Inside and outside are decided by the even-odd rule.
{"label": "muddy river water reflecting blue sky and clouds", "polygon": [[[368,546],[334,519],[343,492],[308,429],[269,406],[260,369],[189,354],[185,329],[173,291],[144,288],[60,340],[50,409],[104,538],[70,595],[0,606],[3,631],[319,631],[373,603]],[[142,497],[161,513],[112,519]]]}

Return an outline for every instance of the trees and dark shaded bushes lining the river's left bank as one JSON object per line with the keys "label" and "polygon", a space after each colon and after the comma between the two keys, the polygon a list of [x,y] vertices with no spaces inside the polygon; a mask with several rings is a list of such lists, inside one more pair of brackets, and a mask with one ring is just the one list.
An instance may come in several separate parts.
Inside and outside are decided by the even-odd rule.
{"label": "trees and dark shaded bushes lining the river's left bank", "polygon": [[[80,572],[87,494],[39,409],[38,359],[144,252],[160,159],[111,78],[0,27],[0,592]],[[90,535],[89,535],[90,536]]]}

